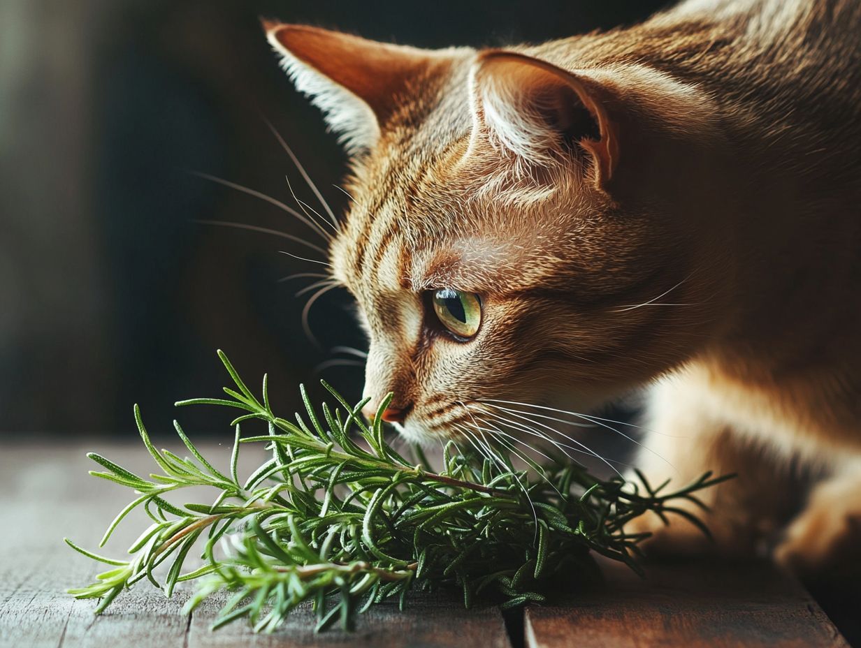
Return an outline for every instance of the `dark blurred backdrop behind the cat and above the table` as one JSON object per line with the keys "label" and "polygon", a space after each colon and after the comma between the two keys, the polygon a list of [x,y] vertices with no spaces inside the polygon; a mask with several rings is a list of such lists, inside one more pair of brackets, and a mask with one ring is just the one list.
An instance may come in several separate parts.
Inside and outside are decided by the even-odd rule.
{"label": "dark blurred backdrop behind the cat and above the table", "polygon": [[[266,125],[293,147],[336,213],[345,158],[279,69],[258,16],[425,47],[541,41],[641,20],[662,3],[615,0],[288,3],[257,0],[0,0],[0,433],[133,435],[132,404],[169,429],[177,398],[214,396],[225,349],[273,400],[296,386],[362,387],[348,296],[332,291],[302,330],[311,262],[269,227],[288,214],[189,174],[295,205],[313,194]],[[350,364],[338,364],[338,359]],[[325,363],[320,366],[321,363]],[[183,413],[225,433],[223,411]]]}

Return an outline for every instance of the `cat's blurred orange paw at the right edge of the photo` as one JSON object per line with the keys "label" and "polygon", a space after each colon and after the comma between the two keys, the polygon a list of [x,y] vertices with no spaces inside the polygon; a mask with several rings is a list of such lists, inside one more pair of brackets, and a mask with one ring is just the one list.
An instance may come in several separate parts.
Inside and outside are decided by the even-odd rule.
{"label": "cat's blurred orange paw at the right edge of the photo", "polygon": [[820,573],[858,564],[861,556],[861,456],[842,460],[810,491],[808,502],[777,546],[777,562],[792,571]]}

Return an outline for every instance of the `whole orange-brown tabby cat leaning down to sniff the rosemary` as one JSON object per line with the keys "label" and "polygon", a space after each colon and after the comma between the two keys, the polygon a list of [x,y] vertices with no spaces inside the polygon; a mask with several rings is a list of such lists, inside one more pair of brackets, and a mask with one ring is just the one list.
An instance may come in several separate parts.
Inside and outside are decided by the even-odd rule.
{"label": "whole orange-brown tabby cat leaning down to sniff the rosemary", "polygon": [[[331,264],[370,338],[366,395],[397,395],[387,420],[582,449],[577,415],[546,405],[649,385],[651,481],[739,473],[708,493],[719,550],[775,528],[798,459],[822,478],[777,559],[843,553],[861,516],[858,0],[691,0],[479,51],[265,28],[354,154]],[[634,530],[709,548],[684,522]]]}

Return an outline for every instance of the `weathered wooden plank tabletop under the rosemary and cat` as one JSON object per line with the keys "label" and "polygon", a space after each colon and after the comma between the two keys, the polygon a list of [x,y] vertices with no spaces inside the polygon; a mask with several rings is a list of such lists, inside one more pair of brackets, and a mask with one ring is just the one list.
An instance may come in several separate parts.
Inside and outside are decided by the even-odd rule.
{"label": "weathered wooden plank tabletop under the rosemary and cat", "polygon": [[[172,444],[169,445],[174,448]],[[645,581],[626,568],[603,565],[606,583],[567,595],[553,605],[500,613],[489,604],[462,608],[457,592],[416,597],[404,613],[372,608],[355,633],[313,634],[312,614],[301,610],[272,635],[254,635],[240,623],[209,631],[217,602],[191,615],[180,612],[189,588],[173,599],[140,583],[100,617],[96,602],[76,601],[68,586],[89,583],[100,569],[71,552],[62,537],[95,548],[127,489],[91,478],[84,457],[97,449],[122,466],[149,472],[138,446],[93,441],[84,445],[0,444],[0,646],[843,646],[811,596],[770,565],[716,562],[650,565]],[[209,458],[228,444],[204,446]],[[246,460],[255,460],[246,455]],[[137,522],[136,522],[137,521]],[[140,519],[124,523],[103,552],[121,556],[137,536]],[[110,547],[113,547],[113,552]]]}

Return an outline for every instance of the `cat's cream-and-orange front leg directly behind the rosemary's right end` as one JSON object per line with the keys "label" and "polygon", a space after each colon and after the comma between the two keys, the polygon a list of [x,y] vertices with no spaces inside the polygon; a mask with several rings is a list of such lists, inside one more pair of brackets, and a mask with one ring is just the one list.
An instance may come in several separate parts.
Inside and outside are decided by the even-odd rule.
{"label": "cat's cream-and-orange front leg directly behind the rosemary's right end", "polygon": [[668,515],[669,526],[658,515],[647,513],[625,530],[653,534],[641,544],[651,553],[751,555],[785,515],[785,471],[734,434],[727,421],[715,417],[704,404],[702,389],[696,382],[687,384],[680,379],[654,387],[648,431],[635,466],[652,486],[669,479],[666,491],[690,484],[704,472],[715,477],[735,473],[737,477],[697,492],[708,511],[684,500],[672,503],[705,522],[713,540],[682,516],[672,514]]}

